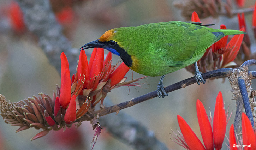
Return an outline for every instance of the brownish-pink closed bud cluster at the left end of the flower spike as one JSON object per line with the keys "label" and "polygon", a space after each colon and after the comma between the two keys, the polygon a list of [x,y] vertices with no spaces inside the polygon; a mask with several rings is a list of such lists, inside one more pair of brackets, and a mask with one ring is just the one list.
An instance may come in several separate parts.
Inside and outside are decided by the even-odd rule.
{"label": "brownish-pink closed bud cluster at the left end of the flower spike", "polygon": [[[58,87],[57,87],[58,88]],[[58,91],[58,90],[57,90]],[[53,92],[53,99],[46,94],[39,93],[40,96],[33,96],[19,102],[6,101],[5,96],[0,94],[1,116],[7,124],[19,126],[16,132],[34,127],[35,129],[43,129],[44,132],[38,133],[31,140],[42,137],[50,130],[59,130],[65,125],[63,115],[59,114],[54,117],[54,103],[57,95]],[[65,113],[65,111],[62,111]],[[49,121],[49,117],[55,120],[58,125]]]}

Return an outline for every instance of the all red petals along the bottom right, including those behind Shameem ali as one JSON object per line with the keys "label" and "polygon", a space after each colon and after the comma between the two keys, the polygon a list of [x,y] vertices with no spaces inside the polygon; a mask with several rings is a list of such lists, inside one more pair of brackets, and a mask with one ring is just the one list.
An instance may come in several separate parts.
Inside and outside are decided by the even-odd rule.
{"label": "all red petals along the bottom right, including those behind Shameem ali", "polygon": [[[225,113],[221,92],[219,92],[216,98],[213,122],[211,117],[208,119],[206,110],[200,100],[197,100],[196,102],[196,110],[204,145],[200,142],[187,122],[179,115],[177,118],[182,134],[178,131],[178,136],[173,132],[175,135],[173,138],[176,140],[174,142],[183,146],[187,150],[220,150],[225,138],[226,125],[229,120],[229,118],[227,118],[228,115]],[[229,131],[229,145],[231,150],[242,150],[238,148],[239,145],[250,144],[251,148],[249,149],[256,149],[256,132],[254,131],[249,118],[244,113],[242,114],[243,142],[242,140],[237,140],[236,142],[236,137],[237,135],[234,133],[234,126],[232,124]]]}

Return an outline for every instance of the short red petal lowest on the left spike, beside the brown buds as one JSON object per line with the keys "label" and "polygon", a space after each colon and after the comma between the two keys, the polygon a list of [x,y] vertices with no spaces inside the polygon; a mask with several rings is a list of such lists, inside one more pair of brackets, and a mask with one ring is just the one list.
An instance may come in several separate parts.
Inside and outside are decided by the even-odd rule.
{"label": "short red petal lowest on the left spike, beside the brown buds", "polygon": [[64,121],[67,124],[74,122],[76,119],[76,95],[71,97],[69,107],[67,107],[66,114],[64,116]]}

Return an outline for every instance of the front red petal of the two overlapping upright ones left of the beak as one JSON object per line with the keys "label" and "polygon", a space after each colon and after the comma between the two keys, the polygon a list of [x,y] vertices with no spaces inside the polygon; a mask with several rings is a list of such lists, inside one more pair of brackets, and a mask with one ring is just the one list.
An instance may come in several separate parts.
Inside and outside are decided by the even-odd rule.
{"label": "front red petal of the two overlapping upright ones left of the beak", "polygon": [[70,102],[70,97],[71,97],[71,80],[70,80],[70,72],[69,69],[67,68],[64,72],[63,75],[63,80],[62,80],[62,86],[60,88],[60,106],[62,108],[66,109],[67,105]]}

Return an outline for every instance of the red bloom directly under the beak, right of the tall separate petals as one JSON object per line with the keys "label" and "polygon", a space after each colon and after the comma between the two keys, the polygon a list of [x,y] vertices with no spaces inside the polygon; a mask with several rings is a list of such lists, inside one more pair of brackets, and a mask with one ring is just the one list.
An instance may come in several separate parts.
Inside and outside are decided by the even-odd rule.
{"label": "red bloom directly under the beak, right of the tall separate petals", "polygon": [[[76,119],[84,115],[90,106],[95,106],[100,101],[103,104],[107,92],[111,89],[123,85],[132,86],[130,83],[141,79],[124,82],[126,80],[124,76],[129,71],[129,67],[124,63],[118,67],[117,65],[111,66],[111,56],[109,52],[104,61],[104,49],[94,48],[88,64],[84,50],[80,51],[77,72],[72,77],[71,95],[83,95],[86,98],[77,110]],[[139,84],[135,83],[135,86]]]}

